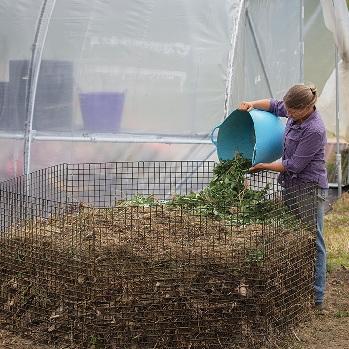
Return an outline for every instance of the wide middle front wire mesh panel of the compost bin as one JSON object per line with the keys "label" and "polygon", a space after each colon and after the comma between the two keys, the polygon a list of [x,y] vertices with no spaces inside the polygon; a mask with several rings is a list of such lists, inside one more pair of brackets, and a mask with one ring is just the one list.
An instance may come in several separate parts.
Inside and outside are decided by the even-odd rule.
{"label": "wide middle front wire mesh panel of the compost bin", "polygon": [[104,340],[120,348],[203,348],[207,341],[218,348],[248,342],[249,333],[264,343],[264,273],[249,261],[251,246],[262,248],[261,227],[241,234],[232,222],[200,214],[205,206],[101,212],[96,306]]}

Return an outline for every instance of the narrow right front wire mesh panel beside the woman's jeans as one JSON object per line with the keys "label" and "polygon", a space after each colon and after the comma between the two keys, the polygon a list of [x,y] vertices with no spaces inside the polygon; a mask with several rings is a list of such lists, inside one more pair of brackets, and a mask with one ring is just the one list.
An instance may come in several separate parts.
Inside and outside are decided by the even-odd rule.
{"label": "narrow right front wire mesh panel beside the woman's jeans", "polygon": [[317,183],[270,194],[264,201],[269,336],[291,332],[314,293]]}

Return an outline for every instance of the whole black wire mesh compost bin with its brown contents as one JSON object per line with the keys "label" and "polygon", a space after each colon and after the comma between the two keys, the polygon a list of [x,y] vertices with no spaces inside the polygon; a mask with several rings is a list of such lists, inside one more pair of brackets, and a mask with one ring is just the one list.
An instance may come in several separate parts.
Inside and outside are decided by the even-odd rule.
{"label": "whole black wire mesh compost bin with its brown contents", "polygon": [[137,192],[200,190],[213,168],[152,164],[69,165],[61,202],[0,191],[8,330],[76,348],[258,348],[307,314],[316,183],[257,174],[245,184],[264,190],[258,200],[137,205]]}

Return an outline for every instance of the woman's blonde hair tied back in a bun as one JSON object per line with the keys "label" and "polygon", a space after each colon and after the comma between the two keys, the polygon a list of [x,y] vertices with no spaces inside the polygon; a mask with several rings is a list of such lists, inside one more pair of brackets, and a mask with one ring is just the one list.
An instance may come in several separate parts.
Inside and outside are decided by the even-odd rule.
{"label": "woman's blonde hair tied back in a bun", "polygon": [[313,85],[294,85],[287,91],[283,101],[290,109],[303,109],[307,105],[313,107],[317,102],[317,88]]}

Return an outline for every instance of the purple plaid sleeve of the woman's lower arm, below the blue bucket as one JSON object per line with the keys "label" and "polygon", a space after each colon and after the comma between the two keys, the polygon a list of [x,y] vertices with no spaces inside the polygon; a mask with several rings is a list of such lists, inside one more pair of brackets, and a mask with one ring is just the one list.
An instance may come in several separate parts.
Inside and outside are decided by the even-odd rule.
{"label": "purple plaid sleeve of the woman's lower arm, below the blue bucket", "polygon": [[282,161],[287,174],[291,178],[297,178],[297,174],[304,170],[321,147],[322,137],[318,132],[309,132],[303,135],[291,158]]}

